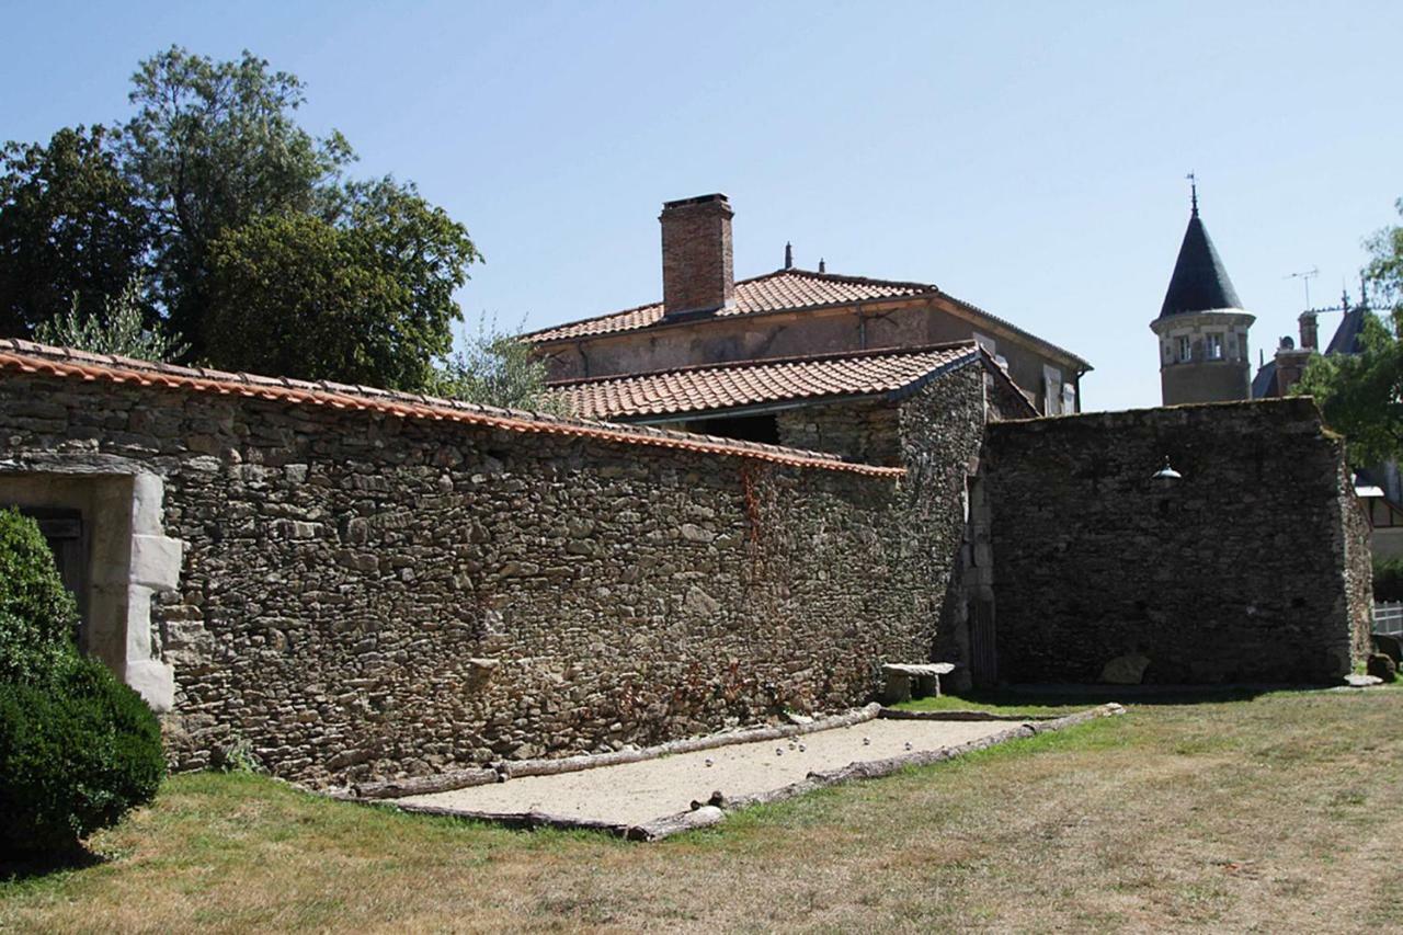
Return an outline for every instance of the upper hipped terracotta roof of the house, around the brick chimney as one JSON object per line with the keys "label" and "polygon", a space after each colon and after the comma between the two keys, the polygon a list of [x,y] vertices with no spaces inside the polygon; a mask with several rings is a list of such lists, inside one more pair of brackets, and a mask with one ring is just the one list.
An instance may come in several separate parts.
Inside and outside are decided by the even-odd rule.
{"label": "upper hipped terracotta roof of the house, around the brick chimney", "polygon": [[[1045,341],[1035,334],[1024,331],[1019,326],[985,312],[976,305],[971,305],[941,292],[939,286],[929,282],[902,282],[898,279],[868,279],[864,277],[843,277],[832,272],[814,272],[810,270],[777,270],[752,279],[741,279],[735,284],[735,305],[721,309],[717,317],[763,314],[767,312],[791,312],[803,309],[818,309],[824,306],[846,305],[853,302],[871,302],[877,299],[904,299],[911,296],[943,296],[955,305],[974,312],[991,321],[1009,329],[1010,331],[1030,338],[1063,357],[1076,361],[1086,369],[1092,365],[1076,354],[1061,348],[1051,341]],[[662,323],[662,303],[641,305],[636,309],[626,309],[612,314],[602,314],[593,319],[582,319],[557,327],[543,329],[522,336],[533,344],[550,341],[568,341],[575,338],[593,337],[598,334],[617,334],[623,331],[637,331]]]}

